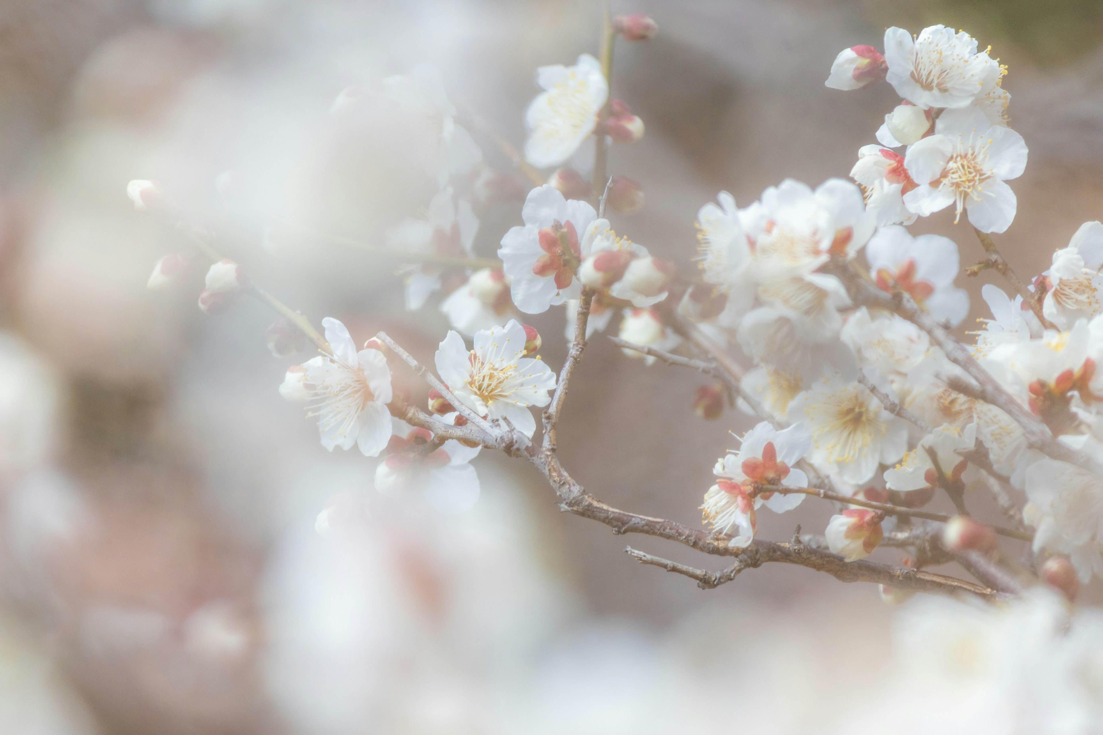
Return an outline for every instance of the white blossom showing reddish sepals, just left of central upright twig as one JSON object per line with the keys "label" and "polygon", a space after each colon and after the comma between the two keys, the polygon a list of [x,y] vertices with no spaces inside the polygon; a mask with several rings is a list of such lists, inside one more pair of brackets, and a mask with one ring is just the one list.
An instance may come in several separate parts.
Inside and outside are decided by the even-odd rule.
{"label": "white blossom showing reddish sepals, just left of central upright twig", "polygon": [[576,271],[589,255],[582,236],[597,216],[588,203],[565,199],[550,184],[528,193],[521,209],[525,225],[512,227],[497,251],[517,309],[539,314],[578,298],[582,287]]}

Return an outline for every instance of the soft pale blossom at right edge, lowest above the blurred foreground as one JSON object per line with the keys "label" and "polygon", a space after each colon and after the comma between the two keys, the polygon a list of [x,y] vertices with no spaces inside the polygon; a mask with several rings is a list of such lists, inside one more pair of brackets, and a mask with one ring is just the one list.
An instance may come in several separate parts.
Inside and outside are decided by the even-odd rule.
{"label": "soft pale blossom at right edge, lowest above the blurred foreground", "polygon": [[1103,574],[1103,480],[1047,457],[1027,467],[1025,484],[1030,502],[1022,516],[1037,529],[1035,552],[1068,554],[1083,583]]}

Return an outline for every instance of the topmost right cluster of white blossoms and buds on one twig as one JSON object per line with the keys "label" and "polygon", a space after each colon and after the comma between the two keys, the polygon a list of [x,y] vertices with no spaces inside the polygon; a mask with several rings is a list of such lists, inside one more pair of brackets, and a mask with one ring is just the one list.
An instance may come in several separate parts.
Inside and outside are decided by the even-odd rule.
{"label": "topmost right cluster of white blossoms and buds on one twig", "polygon": [[[839,53],[827,86],[857,89],[887,79],[901,102],[865,145],[850,175],[866,190],[878,225],[911,224],[953,205],[982,233],[1003,233],[1015,219],[1015,192],[1027,147],[1007,127],[1006,67],[964,31],[944,25],[912,37],[885,32],[885,54],[871,46]],[[904,147],[903,153],[899,151]]]}

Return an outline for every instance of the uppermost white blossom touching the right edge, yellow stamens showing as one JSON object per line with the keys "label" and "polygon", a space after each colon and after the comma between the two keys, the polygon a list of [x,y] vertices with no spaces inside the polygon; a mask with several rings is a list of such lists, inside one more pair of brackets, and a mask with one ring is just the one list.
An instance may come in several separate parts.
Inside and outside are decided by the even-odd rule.
{"label": "uppermost white blossom touching the right edge, yellow stamens showing", "polygon": [[1103,293],[1103,224],[1080,226],[1069,247],[1053,253],[1053,264],[1043,273],[1048,281],[1042,315],[1062,329],[1078,318],[1092,318],[1101,311]]}

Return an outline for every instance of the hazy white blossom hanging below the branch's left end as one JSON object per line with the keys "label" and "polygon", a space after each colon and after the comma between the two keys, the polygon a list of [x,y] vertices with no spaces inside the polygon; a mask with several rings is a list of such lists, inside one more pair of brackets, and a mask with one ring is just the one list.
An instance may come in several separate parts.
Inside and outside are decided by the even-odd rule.
{"label": "hazy white blossom hanging below the branch's left end", "polygon": [[386,456],[375,468],[375,489],[385,494],[420,491],[436,510],[470,510],[479,499],[479,475],[470,462],[480,446],[464,446],[454,439],[424,454],[418,447],[432,441],[432,432],[392,418]]}

